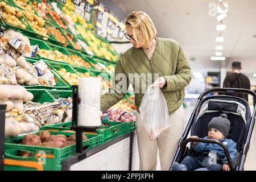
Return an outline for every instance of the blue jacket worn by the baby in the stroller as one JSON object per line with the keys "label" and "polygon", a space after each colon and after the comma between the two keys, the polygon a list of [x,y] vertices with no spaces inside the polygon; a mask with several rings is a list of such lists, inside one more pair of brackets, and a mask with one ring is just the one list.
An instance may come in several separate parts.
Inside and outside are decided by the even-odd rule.
{"label": "blue jacket worn by the baby in the stroller", "polygon": [[[204,139],[209,139],[208,137],[204,137]],[[228,148],[229,154],[230,154],[230,158],[232,163],[234,163],[234,158],[236,156],[237,153],[237,143],[234,142],[232,139],[222,139],[220,140],[222,143],[225,144],[225,146]],[[216,151],[217,155],[220,156],[221,158],[221,162],[223,163],[228,163],[228,159],[226,159],[226,155],[225,152],[223,150],[223,148],[221,146],[219,146],[218,144],[214,144],[214,143],[197,143],[197,145],[193,145],[192,144],[193,149],[196,152],[202,152],[204,150],[210,150],[210,151]]]}

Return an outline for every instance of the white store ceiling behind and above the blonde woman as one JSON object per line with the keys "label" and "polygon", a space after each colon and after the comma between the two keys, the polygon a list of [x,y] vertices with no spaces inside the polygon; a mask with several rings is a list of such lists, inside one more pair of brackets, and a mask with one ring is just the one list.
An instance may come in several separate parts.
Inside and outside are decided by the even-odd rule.
{"label": "white store ceiling behind and above the blonde woman", "polygon": [[[218,71],[220,61],[211,61],[215,56],[215,38],[220,34],[216,17],[210,17],[209,4],[217,0],[113,0],[127,14],[145,11],[155,23],[157,36],[172,38],[184,48],[192,71]],[[223,0],[228,2],[228,16],[222,21],[226,30],[221,33],[221,44],[226,57],[226,68],[233,60],[242,62],[243,73],[256,73],[256,0]]]}

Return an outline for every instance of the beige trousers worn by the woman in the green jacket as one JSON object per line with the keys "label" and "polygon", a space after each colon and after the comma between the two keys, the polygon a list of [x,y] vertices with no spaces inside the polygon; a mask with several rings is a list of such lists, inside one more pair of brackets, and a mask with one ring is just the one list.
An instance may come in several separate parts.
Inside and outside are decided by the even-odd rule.
{"label": "beige trousers worn by the woman in the green jacket", "polygon": [[140,170],[155,171],[158,148],[161,169],[163,171],[169,170],[180,137],[184,131],[185,116],[183,106],[181,105],[174,113],[169,115],[170,127],[166,131],[163,131],[155,140],[148,139],[148,133],[141,119],[141,114],[138,111],[136,114]]}

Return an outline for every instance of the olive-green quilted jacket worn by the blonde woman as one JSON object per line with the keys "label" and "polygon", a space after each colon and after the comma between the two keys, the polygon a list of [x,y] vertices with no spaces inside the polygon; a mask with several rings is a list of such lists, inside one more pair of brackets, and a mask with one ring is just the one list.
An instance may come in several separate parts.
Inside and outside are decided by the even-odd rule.
{"label": "olive-green quilted jacket worn by the blonde woman", "polygon": [[[136,85],[135,79],[129,77],[129,73],[158,73],[159,77],[162,76],[166,79],[167,84],[161,89],[166,98],[169,114],[173,113],[182,104],[185,96],[185,86],[191,81],[191,68],[185,57],[183,49],[180,45],[172,39],[156,38],[155,51],[148,59],[146,53],[141,48],[131,47],[121,56],[115,67],[115,75],[118,73],[124,73],[126,75],[127,84],[125,90],[127,90],[129,84],[133,85],[135,90],[135,106],[139,110],[142,98],[147,86],[152,84],[157,77],[151,76],[148,82],[148,78],[139,76],[141,84]],[[124,75],[123,74],[123,75]],[[118,80],[114,82],[114,86],[118,85]],[[142,84],[147,84],[146,88]],[[143,87],[143,88],[142,88]],[[113,93],[106,93],[101,97],[101,110],[109,109],[125,96],[126,93],[120,93],[120,89],[123,89],[123,85],[115,86]],[[139,90],[139,93],[138,93]],[[143,91],[143,92],[142,92]]]}

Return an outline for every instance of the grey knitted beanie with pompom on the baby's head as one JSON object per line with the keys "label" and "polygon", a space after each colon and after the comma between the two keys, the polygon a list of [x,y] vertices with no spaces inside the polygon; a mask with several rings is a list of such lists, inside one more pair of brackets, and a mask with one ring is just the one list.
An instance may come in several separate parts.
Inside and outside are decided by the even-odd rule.
{"label": "grey knitted beanie with pompom on the baby's head", "polygon": [[226,138],[230,130],[230,122],[227,118],[228,116],[224,113],[222,113],[219,117],[212,118],[212,120],[208,124],[208,131],[211,128],[217,129]]}

